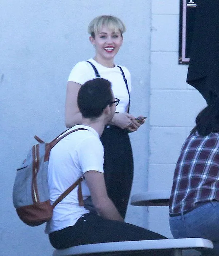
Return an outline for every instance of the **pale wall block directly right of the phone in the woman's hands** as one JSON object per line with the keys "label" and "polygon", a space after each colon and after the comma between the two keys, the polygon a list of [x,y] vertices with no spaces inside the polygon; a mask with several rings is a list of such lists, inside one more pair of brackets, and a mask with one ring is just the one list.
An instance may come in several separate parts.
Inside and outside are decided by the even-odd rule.
{"label": "pale wall block directly right of the phone in the woman's hands", "polygon": [[206,106],[196,90],[152,90],[150,125],[191,127],[197,114]]}

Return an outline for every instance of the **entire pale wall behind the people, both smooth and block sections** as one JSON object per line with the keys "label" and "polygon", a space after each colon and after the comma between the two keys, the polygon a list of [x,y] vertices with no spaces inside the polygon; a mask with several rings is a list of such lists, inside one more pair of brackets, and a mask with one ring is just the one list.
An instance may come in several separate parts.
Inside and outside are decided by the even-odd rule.
{"label": "entire pale wall behind the people, both smooth and block sections", "polygon": [[[2,5],[0,254],[51,255],[43,226],[27,227],[16,216],[12,186],[16,167],[35,143],[33,136],[50,140],[65,129],[68,74],[77,61],[93,56],[89,21],[112,14],[127,26],[116,63],[126,65],[132,75],[131,113],[148,117],[130,135],[132,194],[171,188],[181,145],[205,101],[185,82],[188,66],[178,65],[179,0],[3,0]],[[168,207],[129,206],[126,221],[171,236]]]}

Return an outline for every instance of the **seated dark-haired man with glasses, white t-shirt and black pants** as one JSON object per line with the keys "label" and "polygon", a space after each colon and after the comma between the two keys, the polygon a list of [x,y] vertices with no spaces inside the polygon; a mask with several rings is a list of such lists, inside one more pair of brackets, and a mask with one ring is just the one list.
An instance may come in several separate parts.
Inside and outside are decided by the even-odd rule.
{"label": "seated dark-haired man with glasses, white t-shirt and black pants", "polygon": [[[125,223],[107,195],[103,175],[103,146],[100,135],[114,116],[116,104],[111,83],[97,78],[87,81],[78,92],[78,108],[82,124],[58,142],[50,152],[48,182],[53,203],[78,178],[82,181],[82,196],[91,195],[96,211],[79,205],[78,187],[73,189],[53,210],[46,233],[54,248],[62,249],[100,242],[164,239],[152,231]],[[169,251],[144,255],[170,255]]]}

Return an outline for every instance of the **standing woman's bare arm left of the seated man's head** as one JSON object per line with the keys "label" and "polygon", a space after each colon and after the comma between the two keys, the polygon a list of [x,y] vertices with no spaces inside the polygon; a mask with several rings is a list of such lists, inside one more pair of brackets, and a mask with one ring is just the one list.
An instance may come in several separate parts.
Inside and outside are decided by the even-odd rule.
{"label": "standing woman's bare arm left of the seated man's head", "polygon": [[81,84],[75,82],[67,83],[65,101],[65,125],[71,128],[76,124],[81,124],[82,116],[77,105],[77,96]]}

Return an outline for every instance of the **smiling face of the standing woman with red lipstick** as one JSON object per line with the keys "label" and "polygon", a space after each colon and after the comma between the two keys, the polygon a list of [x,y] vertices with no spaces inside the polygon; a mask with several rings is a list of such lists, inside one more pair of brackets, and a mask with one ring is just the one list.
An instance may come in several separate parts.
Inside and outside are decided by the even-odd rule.
{"label": "smiling face of the standing woman with red lipstick", "polygon": [[97,60],[112,60],[119,51],[123,42],[120,31],[112,31],[103,26],[100,31],[95,33],[95,38],[89,38],[95,46]]}

